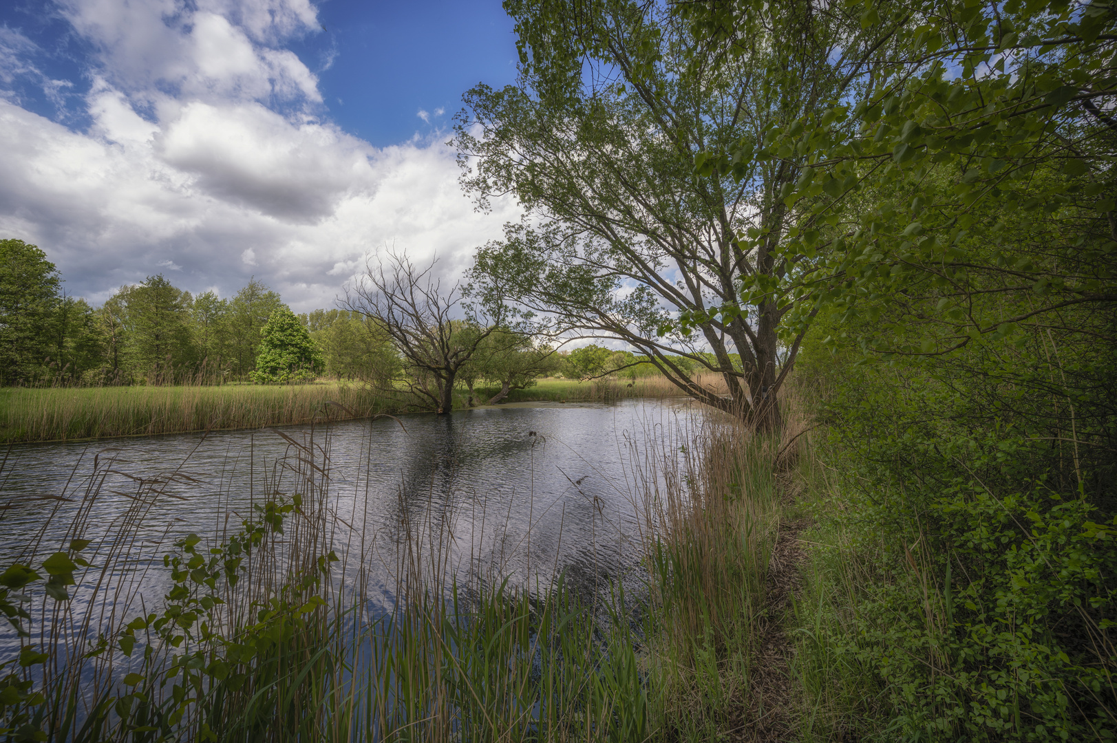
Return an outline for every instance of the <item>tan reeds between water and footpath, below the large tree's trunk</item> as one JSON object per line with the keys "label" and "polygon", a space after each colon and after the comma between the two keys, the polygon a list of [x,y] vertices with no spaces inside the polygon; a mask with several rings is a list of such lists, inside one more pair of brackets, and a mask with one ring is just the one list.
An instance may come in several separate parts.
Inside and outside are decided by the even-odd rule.
{"label": "tan reeds between water and footpath, below the large tree's trunk", "polygon": [[739,735],[762,714],[761,677],[771,669],[757,666],[771,655],[762,644],[770,641],[765,621],[774,621],[763,619],[772,611],[770,563],[787,540],[783,473],[810,429],[801,392],[789,387],[781,397],[779,436],[704,409],[694,429],[659,439],[658,451],[639,458],[643,545],[659,607],[648,664],[662,720],[679,737]]}

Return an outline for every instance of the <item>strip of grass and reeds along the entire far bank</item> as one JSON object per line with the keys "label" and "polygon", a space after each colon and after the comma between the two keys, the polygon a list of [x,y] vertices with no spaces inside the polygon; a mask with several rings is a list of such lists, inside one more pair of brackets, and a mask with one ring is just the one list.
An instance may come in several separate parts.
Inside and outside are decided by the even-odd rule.
{"label": "strip of grass and reeds along the entire far bank", "polygon": [[[717,379],[703,378],[700,383],[710,389],[724,388],[724,382]],[[477,399],[487,400],[499,388],[479,385],[475,391]],[[510,390],[502,402],[605,401],[678,394],[678,388],[656,377],[590,382],[543,379],[527,389]],[[457,407],[466,408],[465,390],[458,397],[461,404]],[[332,420],[429,409],[429,404],[403,391],[388,394],[360,383],[334,381],[281,385],[0,388],[0,444],[297,426],[321,420],[327,404]]]}

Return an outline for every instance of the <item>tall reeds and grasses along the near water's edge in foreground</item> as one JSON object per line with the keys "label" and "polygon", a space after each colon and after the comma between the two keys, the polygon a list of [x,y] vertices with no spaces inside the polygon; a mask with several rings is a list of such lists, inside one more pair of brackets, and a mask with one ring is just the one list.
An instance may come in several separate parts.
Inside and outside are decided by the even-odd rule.
{"label": "tall reeds and grasses along the near water's edge in foreground", "polygon": [[[760,440],[707,413],[630,448],[647,587],[638,607],[619,581],[596,606],[561,574],[514,585],[472,550],[462,572],[452,509],[401,503],[394,603],[378,613],[367,565],[379,558],[359,525],[360,499],[353,513],[338,511],[322,429],[280,434],[287,454],[252,467],[251,502],[229,502],[225,526],[207,539],[141,537],[169,486],[195,482],[189,460],[137,478],[126,514],[90,534],[88,516],[109,496],[106,473],[121,467],[98,460],[52,503],[52,518],[68,520],[61,543],[48,544],[44,527],[0,577],[0,608],[22,634],[0,650],[0,735],[725,735],[750,709],[755,619],[780,520],[772,463],[793,432]],[[140,592],[151,571],[166,573],[161,597]]]}

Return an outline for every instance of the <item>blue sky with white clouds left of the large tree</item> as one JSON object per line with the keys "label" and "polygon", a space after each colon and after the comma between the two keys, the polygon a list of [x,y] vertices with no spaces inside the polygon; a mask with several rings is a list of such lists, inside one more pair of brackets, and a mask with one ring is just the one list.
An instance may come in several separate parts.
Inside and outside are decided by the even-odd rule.
{"label": "blue sky with white clouds left of the large tree", "polygon": [[459,276],[519,211],[446,142],[515,60],[498,0],[6,0],[0,239],[93,304],[162,273],[332,307],[385,249]]}

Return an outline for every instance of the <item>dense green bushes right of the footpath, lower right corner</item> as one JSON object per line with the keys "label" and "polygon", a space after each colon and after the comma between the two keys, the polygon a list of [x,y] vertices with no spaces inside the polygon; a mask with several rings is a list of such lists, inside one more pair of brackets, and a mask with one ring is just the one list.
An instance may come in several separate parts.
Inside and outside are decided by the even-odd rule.
{"label": "dense green bushes right of the footpath, lower right corner", "polygon": [[[840,725],[943,741],[1117,734],[1117,366],[1111,344],[1053,337],[890,364],[812,346],[843,475],[819,514],[846,553],[819,556],[834,564],[804,601],[804,663]],[[828,690],[858,686],[878,690]]]}

